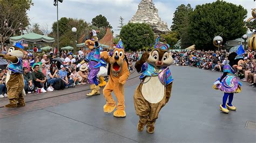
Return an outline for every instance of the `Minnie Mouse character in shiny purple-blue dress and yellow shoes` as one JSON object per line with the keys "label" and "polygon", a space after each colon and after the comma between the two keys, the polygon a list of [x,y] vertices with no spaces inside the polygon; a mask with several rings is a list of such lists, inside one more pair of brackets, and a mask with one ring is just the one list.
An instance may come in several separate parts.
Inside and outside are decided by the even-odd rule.
{"label": "Minnie Mouse character in shiny purple-blue dress and yellow shoes", "polygon": [[[238,80],[238,77],[235,75],[235,73],[237,73],[237,70],[242,70],[241,66],[244,63],[244,58],[242,57],[242,54],[245,53],[245,51],[242,51],[244,51],[244,49],[238,49],[237,53],[233,52],[228,55],[228,60],[230,62],[228,63],[228,65],[225,65],[223,67],[223,75],[221,75],[221,77],[219,77],[213,85],[214,89],[224,92],[223,104],[220,104],[219,106],[220,111],[224,113],[230,112],[228,111],[228,109],[233,111],[237,110],[237,108],[232,105],[232,101],[234,93],[237,94],[242,90],[242,84]],[[226,103],[227,98],[228,103]]]}

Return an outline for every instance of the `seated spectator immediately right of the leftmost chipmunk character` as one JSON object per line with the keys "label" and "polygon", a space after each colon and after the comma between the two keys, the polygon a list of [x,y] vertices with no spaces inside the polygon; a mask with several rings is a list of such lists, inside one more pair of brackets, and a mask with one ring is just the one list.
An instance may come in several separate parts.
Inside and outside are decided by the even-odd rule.
{"label": "seated spectator immediately right of the leftmost chipmunk character", "polygon": [[23,67],[23,77],[24,77],[24,90],[26,93],[31,93],[34,90],[33,85],[33,77],[31,73],[29,72],[29,69],[27,67]]}

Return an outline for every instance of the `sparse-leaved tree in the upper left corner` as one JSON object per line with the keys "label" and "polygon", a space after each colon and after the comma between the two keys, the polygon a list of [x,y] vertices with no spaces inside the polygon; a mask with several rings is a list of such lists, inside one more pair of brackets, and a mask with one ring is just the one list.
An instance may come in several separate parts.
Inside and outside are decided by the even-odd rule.
{"label": "sparse-leaved tree in the upper left corner", "polygon": [[33,5],[31,0],[2,0],[0,1],[0,42],[3,44],[9,37],[24,30],[29,25],[26,13]]}

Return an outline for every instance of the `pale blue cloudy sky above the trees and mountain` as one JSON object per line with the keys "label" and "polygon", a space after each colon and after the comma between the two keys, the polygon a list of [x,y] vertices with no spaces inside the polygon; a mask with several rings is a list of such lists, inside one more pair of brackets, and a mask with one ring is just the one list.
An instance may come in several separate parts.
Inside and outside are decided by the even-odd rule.
{"label": "pale blue cloudy sky above the trees and mountain", "polygon": [[[114,33],[119,26],[119,17],[124,18],[127,23],[138,9],[141,0],[63,0],[59,3],[59,18],[72,17],[81,18],[86,22],[91,22],[97,15],[103,15],[110,22]],[[159,17],[167,22],[170,28],[172,24],[173,13],[180,4],[190,3],[193,8],[198,4],[211,3],[213,0],[153,0],[158,9]],[[256,8],[256,2],[253,0],[226,0],[237,5],[244,6],[248,11],[248,17],[251,17],[251,9]],[[34,6],[28,12],[30,23],[39,23],[42,27],[48,27],[51,30],[52,23],[57,20],[56,7],[53,6],[53,0],[33,0]]]}

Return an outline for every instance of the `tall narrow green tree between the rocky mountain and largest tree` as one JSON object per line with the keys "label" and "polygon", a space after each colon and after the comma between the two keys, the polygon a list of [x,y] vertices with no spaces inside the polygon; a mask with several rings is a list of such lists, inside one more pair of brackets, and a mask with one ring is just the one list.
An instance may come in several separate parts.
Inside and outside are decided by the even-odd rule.
{"label": "tall narrow green tree between the rocky mountain and largest tree", "polygon": [[186,34],[185,28],[188,26],[188,16],[193,11],[190,4],[184,5],[181,4],[176,8],[176,11],[173,13],[173,22],[171,26],[172,31],[176,31],[178,34],[178,39],[181,38],[182,34]]}

